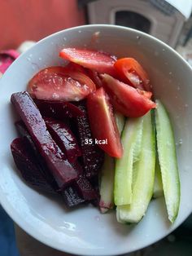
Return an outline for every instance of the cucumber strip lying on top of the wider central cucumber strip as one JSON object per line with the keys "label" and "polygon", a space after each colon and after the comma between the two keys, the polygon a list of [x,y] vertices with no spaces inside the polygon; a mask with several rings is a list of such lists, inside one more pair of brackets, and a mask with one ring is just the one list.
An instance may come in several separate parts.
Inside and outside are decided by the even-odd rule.
{"label": "cucumber strip lying on top of the wider central cucumber strip", "polygon": [[143,117],[125,121],[121,136],[124,155],[116,159],[114,200],[115,205],[127,205],[132,201],[133,162],[137,161],[142,142]]}

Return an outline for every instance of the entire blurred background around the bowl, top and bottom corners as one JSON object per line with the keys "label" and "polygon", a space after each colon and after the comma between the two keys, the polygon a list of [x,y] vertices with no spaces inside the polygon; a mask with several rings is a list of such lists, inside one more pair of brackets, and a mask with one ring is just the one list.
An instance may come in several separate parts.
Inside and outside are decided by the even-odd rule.
{"label": "entire blurred background around the bowl, top and bottom corners", "polygon": [[[172,46],[192,65],[191,10],[192,0],[0,0],[0,77],[21,52],[41,38],[82,24],[118,24],[141,30]],[[1,206],[0,227],[0,256],[25,255],[18,251],[14,224]],[[21,248],[24,233],[20,237]],[[191,241],[190,216],[164,240],[130,255],[191,256]],[[39,255],[48,254],[42,249]]]}

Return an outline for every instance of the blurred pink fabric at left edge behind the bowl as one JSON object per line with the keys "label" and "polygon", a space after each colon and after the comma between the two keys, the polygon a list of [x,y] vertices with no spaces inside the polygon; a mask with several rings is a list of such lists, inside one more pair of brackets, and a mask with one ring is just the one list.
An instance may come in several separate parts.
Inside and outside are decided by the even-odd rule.
{"label": "blurred pink fabric at left edge behind the bowl", "polygon": [[5,73],[19,55],[15,50],[0,51],[0,74]]}

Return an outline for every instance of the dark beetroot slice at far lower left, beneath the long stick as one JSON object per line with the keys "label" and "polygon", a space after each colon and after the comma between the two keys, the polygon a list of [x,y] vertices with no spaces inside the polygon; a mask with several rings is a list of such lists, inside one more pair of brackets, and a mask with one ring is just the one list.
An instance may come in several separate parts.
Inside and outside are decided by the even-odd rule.
{"label": "dark beetroot slice at far lower left, beneath the long stick", "polygon": [[28,148],[24,138],[13,140],[11,143],[11,152],[15,166],[20,170],[20,174],[26,183],[40,191],[55,193],[53,188],[46,182],[44,175],[41,174],[37,158]]}

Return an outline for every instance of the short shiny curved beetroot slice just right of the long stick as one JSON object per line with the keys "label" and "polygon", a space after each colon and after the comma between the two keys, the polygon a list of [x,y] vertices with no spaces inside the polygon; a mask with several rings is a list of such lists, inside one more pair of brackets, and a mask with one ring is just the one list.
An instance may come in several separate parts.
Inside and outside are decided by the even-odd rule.
{"label": "short shiny curved beetroot slice just right of the long stick", "polygon": [[73,163],[77,157],[81,156],[81,148],[78,146],[72,130],[63,121],[52,118],[45,118],[46,127],[50,135],[58,144],[59,148],[65,153],[68,161]]}

